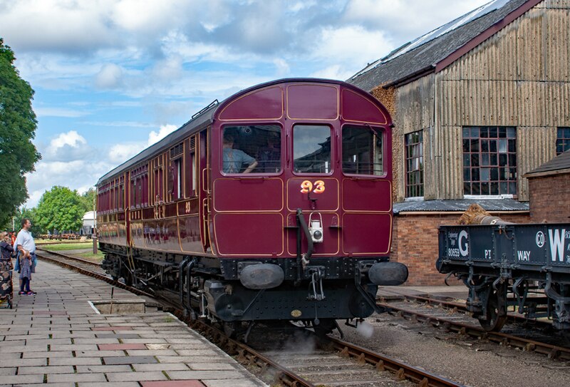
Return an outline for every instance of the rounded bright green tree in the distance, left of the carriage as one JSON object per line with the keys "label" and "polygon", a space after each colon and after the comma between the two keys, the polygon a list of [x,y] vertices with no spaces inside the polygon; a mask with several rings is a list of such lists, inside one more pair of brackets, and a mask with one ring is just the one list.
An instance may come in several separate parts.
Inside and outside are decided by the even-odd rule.
{"label": "rounded bright green tree in the distance, left of the carriage", "polygon": [[77,232],[83,225],[83,205],[77,191],[68,187],[54,186],[46,191],[35,211],[40,229],[53,232]]}

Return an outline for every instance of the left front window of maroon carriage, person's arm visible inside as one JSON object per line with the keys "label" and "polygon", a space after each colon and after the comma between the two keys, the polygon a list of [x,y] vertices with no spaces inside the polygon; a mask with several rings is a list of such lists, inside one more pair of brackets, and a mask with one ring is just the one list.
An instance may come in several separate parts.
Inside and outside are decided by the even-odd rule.
{"label": "left front window of maroon carriage, person's arm visible inside", "polygon": [[228,126],[222,135],[222,172],[281,172],[280,126]]}

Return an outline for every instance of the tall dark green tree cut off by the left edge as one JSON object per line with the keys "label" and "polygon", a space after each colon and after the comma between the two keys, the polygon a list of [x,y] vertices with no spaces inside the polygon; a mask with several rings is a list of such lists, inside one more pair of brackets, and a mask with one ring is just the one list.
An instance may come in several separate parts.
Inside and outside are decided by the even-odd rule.
{"label": "tall dark green tree cut off by the left edge", "polygon": [[36,135],[33,90],[14,66],[14,51],[0,38],[0,225],[8,225],[28,198],[24,174],[41,155],[31,140]]}

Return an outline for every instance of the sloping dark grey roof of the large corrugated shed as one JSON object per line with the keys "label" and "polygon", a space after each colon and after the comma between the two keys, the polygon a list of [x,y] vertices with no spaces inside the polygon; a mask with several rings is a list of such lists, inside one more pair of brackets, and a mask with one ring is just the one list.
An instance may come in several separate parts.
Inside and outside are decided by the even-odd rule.
{"label": "sloping dark grey roof of the large corrugated shed", "polygon": [[402,83],[408,78],[435,71],[437,63],[527,2],[537,1],[492,1],[414,41],[405,43],[385,58],[358,71],[347,82],[371,91],[379,85]]}

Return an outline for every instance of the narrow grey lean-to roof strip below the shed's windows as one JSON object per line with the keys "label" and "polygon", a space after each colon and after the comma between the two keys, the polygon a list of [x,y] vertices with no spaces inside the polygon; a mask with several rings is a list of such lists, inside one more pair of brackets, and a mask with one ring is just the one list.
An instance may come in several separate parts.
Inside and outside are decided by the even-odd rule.
{"label": "narrow grey lean-to roof strip below the shed's windows", "polygon": [[513,199],[462,199],[462,200],[417,200],[394,203],[394,214],[402,212],[463,212],[470,205],[480,205],[487,211],[528,211],[529,203]]}

